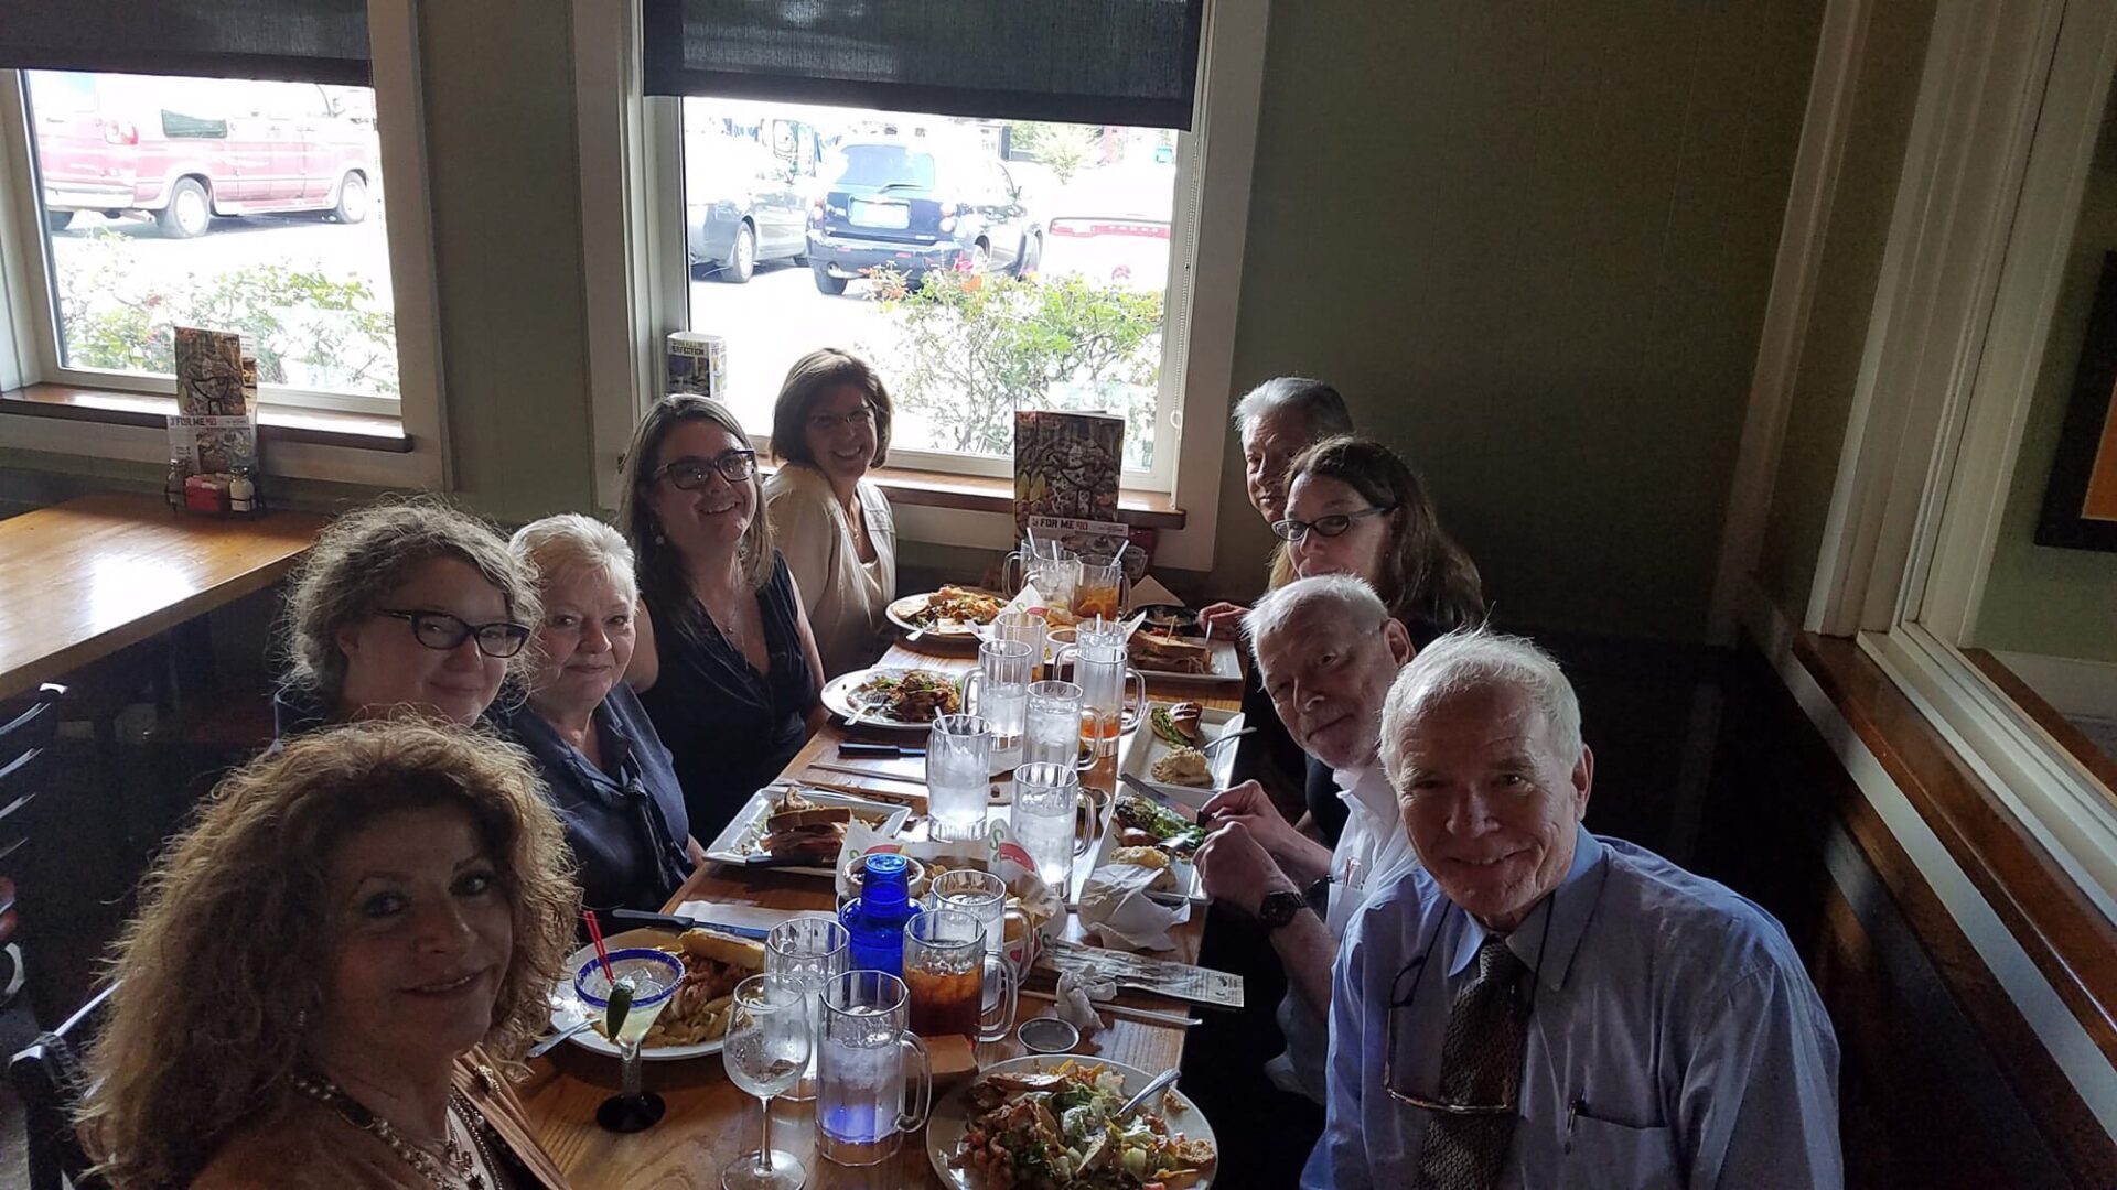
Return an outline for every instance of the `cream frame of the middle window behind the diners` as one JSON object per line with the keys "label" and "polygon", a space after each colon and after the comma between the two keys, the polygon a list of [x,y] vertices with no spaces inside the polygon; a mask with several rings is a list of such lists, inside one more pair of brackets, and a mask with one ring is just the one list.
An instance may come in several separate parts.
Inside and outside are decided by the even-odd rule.
{"label": "cream frame of the middle window behind the diners", "polygon": [[[1192,131],[1181,133],[1194,150],[1177,155],[1156,443],[1160,491],[1186,510],[1183,529],[1162,529],[1156,544],[1171,567],[1213,567],[1268,19],[1268,0],[1207,2]],[[661,392],[661,339],[690,326],[682,114],[680,100],[641,91],[637,0],[574,0],[574,53],[597,500],[614,508],[631,428]],[[1202,432],[1183,432],[1192,419]],[[1012,474],[1008,459],[895,447],[891,464]],[[917,506],[900,508],[898,531],[984,548],[1014,538],[1012,515]]]}

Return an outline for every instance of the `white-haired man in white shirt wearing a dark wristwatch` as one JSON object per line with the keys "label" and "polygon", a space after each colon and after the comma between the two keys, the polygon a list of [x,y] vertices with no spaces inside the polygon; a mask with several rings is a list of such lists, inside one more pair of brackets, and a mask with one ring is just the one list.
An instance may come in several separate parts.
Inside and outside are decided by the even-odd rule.
{"label": "white-haired man in white shirt wearing a dark wristwatch", "polygon": [[1329,849],[1281,817],[1257,783],[1236,786],[1205,807],[1215,830],[1198,870],[1215,902],[1270,932],[1287,970],[1279,1006],[1287,1052],[1266,1071],[1281,1090],[1323,1103],[1338,940],[1368,894],[1412,855],[1376,754],[1382,703],[1412,639],[1372,587],[1344,574],[1264,595],[1243,627],[1272,707],[1293,741],[1332,767],[1349,817]]}

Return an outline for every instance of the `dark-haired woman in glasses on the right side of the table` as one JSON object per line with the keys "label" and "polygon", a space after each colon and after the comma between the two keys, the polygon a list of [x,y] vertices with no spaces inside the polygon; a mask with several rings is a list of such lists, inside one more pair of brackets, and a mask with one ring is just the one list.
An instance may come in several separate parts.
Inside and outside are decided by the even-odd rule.
{"label": "dark-haired woman in glasses on the right side of the table", "polygon": [[[1334,436],[1302,451],[1287,468],[1285,515],[1272,534],[1300,578],[1365,578],[1416,648],[1484,623],[1478,565],[1442,529],[1418,474],[1382,443]],[[1336,847],[1346,807],[1329,764],[1315,758],[1306,803],[1317,832]]]}

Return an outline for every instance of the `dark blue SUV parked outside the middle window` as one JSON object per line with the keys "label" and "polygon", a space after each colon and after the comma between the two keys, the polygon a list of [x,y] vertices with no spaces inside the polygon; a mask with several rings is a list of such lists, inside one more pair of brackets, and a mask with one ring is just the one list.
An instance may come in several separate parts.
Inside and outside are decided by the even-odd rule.
{"label": "dark blue SUV parked outside the middle window", "polygon": [[826,294],[881,265],[912,284],[934,269],[1035,269],[1042,235],[997,159],[927,138],[851,140],[838,157],[809,216],[809,267]]}

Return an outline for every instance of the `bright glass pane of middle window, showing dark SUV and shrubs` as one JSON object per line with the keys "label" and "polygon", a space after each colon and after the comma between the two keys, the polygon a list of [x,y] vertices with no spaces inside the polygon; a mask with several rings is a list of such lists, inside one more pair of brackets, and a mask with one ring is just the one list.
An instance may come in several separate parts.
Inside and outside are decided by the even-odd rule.
{"label": "bright glass pane of middle window, showing dark SUV and shrubs", "polygon": [[1097,409],[1169,487],[1173,129],[686,97],[682,146],[688,322],[752,434],[796,358],[847,347],[898,462],[1006,474],[1016,409]]}

